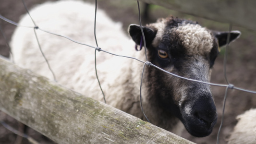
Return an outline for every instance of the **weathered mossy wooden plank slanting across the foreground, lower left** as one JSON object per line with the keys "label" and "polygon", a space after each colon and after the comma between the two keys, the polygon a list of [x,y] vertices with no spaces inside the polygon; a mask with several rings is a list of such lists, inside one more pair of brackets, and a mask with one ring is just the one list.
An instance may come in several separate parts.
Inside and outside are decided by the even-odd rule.
{"label": "weathered mossy wooden plank slanting across the foreground, lower left", "polygon": [[59,144],[194,144],[3,59],[0,110]]}

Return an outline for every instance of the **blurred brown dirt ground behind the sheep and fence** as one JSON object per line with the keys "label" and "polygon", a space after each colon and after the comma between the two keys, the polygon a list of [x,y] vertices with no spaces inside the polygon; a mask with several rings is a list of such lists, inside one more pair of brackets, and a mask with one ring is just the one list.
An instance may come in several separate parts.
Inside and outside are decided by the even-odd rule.
{"label": "blurred brown dirt ground behind the sheep and fence", "polygon": [[[29,8],[35,4],[42,3],[45,0],[24,0]],[[92,0],[91,0],[92,1]],[[127,2],[129,1],[129,2]],[[143,4],[141,3],[141,6]],[[124,30],[127,29],[129,24],[138,24],[136,1],[132,0],[98,0],[98,7],[107,11],[107,13],[115,21],[123,23]],[[21,0],[1,0],[0,2],[0,14],[6,18],[11,19],[14,22],[19,21],[21,14],[25,13],[24,6]],[[192,17],[183,13],[169,11],[158,6],[150,6],[149,18],[147,22],[155,21],[158,17],[165,17],[167,15],[178,16],[180,18],[189,18],[196,20],[199,24],[207,26],[214,30],[227,31],[228,24],[221,24],[209,20],[205,20],[198,17]],[[6,35],[7,41],[10,41],[12,32],[15,28],[14,25],[8,24],[0,20],[0,27]],[[241,27],[233,26],[233,30],[240,30],[242,36],[236,40],[235,43],[230,45],[228,51],[227,60],[227,77],[231,84],[235,86],[256,90],[256,32],[247,30]],[[216,63],[212,72],[213,83],[225,84],[223,74],[223,52],[216,60]],[[9,48],[6,45],[6,41],[2,35],[0,35],[0,54],[9,57]],[[225,87],[212,86],[213,96],[215,98],[216,107],[218,110],[218,123],[216,124],[212,134],[204,138],[196,138],[183,132],[183,137],[198,144],[215,144],[217,133],[220,125],[222,114],[222,103],[225,93]],[[237,90],[229,90],[228,98],[226,102],[226,109],[224,115],[224,123],[220,133],[220,144],[225,144],[229,137],[229,133],[232,131],[233,126],[236,124],[235,117],[245,110],[250,108],[256,108],[256,95],[245,93]],[[14,120],[12,117],[4,114],[0,111],[0,120],[4,120],[14,128],[21,128],[21,124]],[[36,139],[40,144],[54,144],[48,138],[44,137],[40,133],[28,129],[28,135]],[[16,134],[5,129],[0,125],[0,144],[30,144],[26,139],[20,140]]]}

